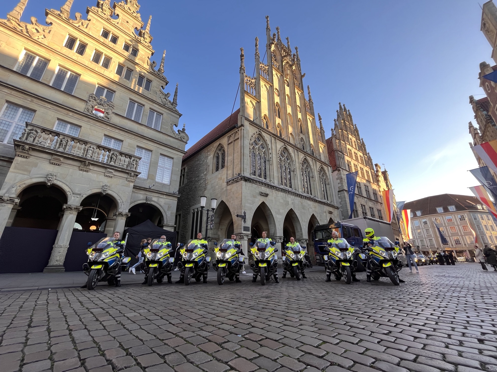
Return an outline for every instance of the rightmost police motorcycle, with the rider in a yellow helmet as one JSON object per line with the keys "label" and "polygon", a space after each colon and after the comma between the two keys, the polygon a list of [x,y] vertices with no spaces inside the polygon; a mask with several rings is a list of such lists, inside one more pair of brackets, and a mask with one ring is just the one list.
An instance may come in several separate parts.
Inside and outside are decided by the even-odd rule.
{"label": "rightmost police motorcycle, with the rider in a yellow helmet", "polygon": [[367,263],[371,269],[371,278],[378,280],[380,277],[390,278],[392,283],[399,285],[399,271],[402,261],[399,260],[399,247],[387,237],[379,237],[370,242],[372,246],[366,248],[368,252]]}

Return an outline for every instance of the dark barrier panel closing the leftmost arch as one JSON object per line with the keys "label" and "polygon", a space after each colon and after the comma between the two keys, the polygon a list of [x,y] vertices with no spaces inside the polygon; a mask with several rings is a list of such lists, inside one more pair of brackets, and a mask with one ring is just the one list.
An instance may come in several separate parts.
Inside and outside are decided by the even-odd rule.
{"label": "dark barrier panel closing the leftmost arch", "polygon": [[0,238],[0,273],[42,272],[57,230],[6,227]]}

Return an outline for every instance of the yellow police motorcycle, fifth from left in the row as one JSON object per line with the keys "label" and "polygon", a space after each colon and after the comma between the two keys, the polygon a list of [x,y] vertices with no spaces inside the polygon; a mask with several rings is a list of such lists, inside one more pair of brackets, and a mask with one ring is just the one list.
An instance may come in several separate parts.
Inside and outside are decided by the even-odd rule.
{"label": "yellow police motorcycle, fifth from left in the row", "polygon": [[278,259],[276,252],[278,248],[274,248],[275,242],[255,242],[250,243],[250,253],[253,262],[250,263],[250,268],[254,273],[255,282],[256,275],[260,275],[260,284],[265,285],[266,280],[271,278],[271,275],[277,274]]}

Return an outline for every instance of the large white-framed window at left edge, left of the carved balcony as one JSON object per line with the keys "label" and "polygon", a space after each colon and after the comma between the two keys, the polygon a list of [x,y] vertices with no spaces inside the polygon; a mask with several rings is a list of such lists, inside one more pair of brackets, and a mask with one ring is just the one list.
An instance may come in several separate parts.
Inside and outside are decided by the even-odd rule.
{"label": "large white-framed window at left edge, left of the carved balcony", "polygon": [[0,114],[0,142],[13,145],[13,140],[19,138],[26,122],[30,123],[33,117],[33,110],[7,102]]}

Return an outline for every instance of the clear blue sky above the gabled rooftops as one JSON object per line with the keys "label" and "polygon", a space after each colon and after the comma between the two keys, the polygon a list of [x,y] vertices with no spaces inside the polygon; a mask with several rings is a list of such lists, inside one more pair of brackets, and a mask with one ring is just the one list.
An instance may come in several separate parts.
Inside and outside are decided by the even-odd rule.
{"label": "clear blue sky above the gabled rooftops", "polygon": [[[0,17],[17,0],[0,2]],[[45,7],[30,0],[22,20],[44,24]],[[159,1],[139,0],[160,62],[167,50],[166,91],[179,83],[178,109],[190,143],[230,115],[239,83],[240,47],[253,71],[254,38],[279,26],[299,47],[304,84],[327,137],[338,102],[350,110],[374,163],[385,164],[397,200],[470,194],[477,163],[468,146],[469,96],[481,98],[479,63],[492,49],[480,31],[477,0]],[[483,4],[483,0],[481,2]],[[75,0],[85,17],[96,0]],[[477,96],[478,95],[478,96]],[[238,101],[237,101],[238,104]]]}

